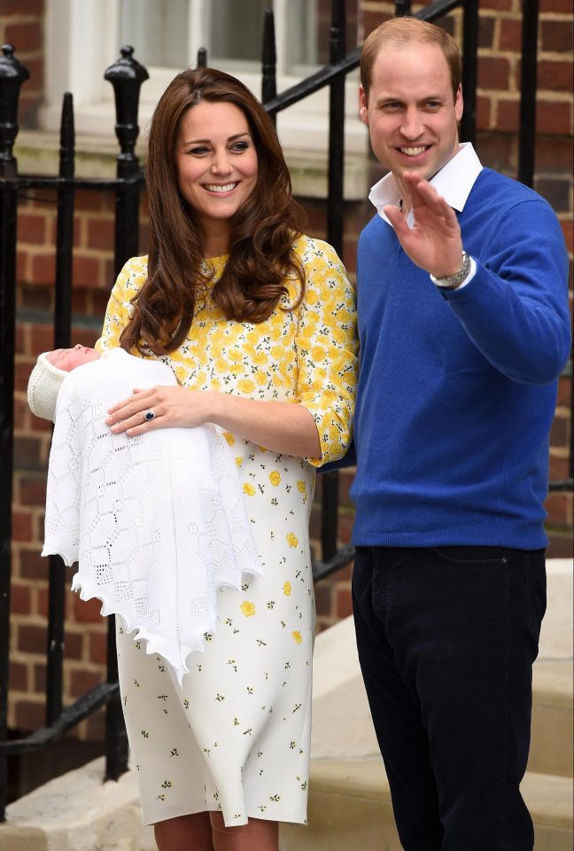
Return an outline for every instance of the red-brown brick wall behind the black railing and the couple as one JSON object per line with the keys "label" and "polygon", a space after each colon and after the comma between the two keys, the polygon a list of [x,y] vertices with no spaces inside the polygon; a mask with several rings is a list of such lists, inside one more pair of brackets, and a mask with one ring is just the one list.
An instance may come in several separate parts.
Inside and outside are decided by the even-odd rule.
{"label": "red-brown brick wall behind the black railing and the couple", "polygon": [[[572,253],[572,178],[570,76],[572,29],[569,0],[542,0],[539,54],[539,120],[536,148],[536,188],[553,204]],[[363,0],[357,4],[360,37],[384,15],[389,4]],[[446,26],[460,35],[458,13]],[[42,95],[43,2],[0,0],[0,38],[12,42],[16,55],[31,71],[22,87],[19,121],[34,127],[36,107]],[[520,45],[518,0],[485,0],[481,3],[478,88],[477,147],[486,165],[516,174],[517,102]],[[372,162],[372,180],[380,176]],[[27,409],[27,376],[38,352],[52,347],[47,316],[53,306],[54,239],[56,208],[50,193],[35,192],[22,199],[18,243],[18,328],[16,364],[16,446],[13,501],[12,670],[9,722],[14,728],[31,729],[43,722],[45,678],[45,624],[47,613],[47,560],[39,553],[43,541],[45,465],[50,443],[48,424],[32,417]],[[107,296],[112,285],[113,199],[90,191],[77,196],[74,217],[74,339],[91,343],[97,338]],[[308,213],[307,231],[325,235],[322,202],[302,199]],[[143,201],[143,223],[145,206]],[[371,211],[366,202],[348,203],[345,210],[343,259],[353,274],[356,238]],[[145,245],[143,225],[142,250]],[[551,471],[563,478],[568,469],[570,426],[569,379],[562,379],[552,432]],[[340,543],[350,539],[353,509],[348,499],[352,472],[340,475]],[[320,556],[319,509],[321,477],[312,517],[314,553]],[[551,555],[571,552],[572,497],[548,497]],[[325,628],[351,612],[350,567],[339,571],[316,589],[319,628]],[[98,605],[66,597],[65,702],[77,697],[102,675],[105,657],[105,624]],[[101,715],[83,722],[79,735],[94,738]]]}

